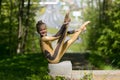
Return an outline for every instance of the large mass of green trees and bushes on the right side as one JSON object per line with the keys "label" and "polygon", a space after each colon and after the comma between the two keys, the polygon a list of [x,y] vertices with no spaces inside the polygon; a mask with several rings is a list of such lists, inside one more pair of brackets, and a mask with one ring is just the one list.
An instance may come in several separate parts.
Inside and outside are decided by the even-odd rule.
{"label": "large mass of green trees and bushes on the right side", "polygon": [[91,56],[89,61],[101,69],[120,68],[120,1],[99,0],[97,4],[97,7],[88,6],[84,14],[84,20],[91,21],[85,38],[86,49],[90,55],[99,56],[99,59]]}

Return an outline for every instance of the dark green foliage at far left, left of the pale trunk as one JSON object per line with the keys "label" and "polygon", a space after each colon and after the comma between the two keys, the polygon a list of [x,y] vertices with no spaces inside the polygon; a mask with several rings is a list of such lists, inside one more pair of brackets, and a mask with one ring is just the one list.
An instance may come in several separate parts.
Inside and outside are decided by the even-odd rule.
{"label": "dark green foliage at far left, left of the pale trunk", "polygon": [[[2,0],[3,1],[3,0]],[[9,2],[9,1],[8,1]],[[0,51],[1,53],[12,52],[16,45],[16,37],[17,37],[17,15],[11,17],[11,14],[16,13],[17,9],[12,9],[14,6],[10,6],[10,3],[6,3],[5,0],[1,3],[1,11],[0,11]],[[11,13],[12,10],[12,13]]]}

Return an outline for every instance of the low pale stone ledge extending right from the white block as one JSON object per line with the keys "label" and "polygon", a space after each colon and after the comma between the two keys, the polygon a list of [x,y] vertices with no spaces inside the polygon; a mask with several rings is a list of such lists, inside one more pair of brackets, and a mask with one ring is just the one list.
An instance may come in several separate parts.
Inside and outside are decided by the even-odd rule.
{"label": "low pale stone ledge extending right from the white block", "polygon": [[72,71],[71,80],[80,80],[83,78],[84,80],[120,80],[120,70],[73,70]]}

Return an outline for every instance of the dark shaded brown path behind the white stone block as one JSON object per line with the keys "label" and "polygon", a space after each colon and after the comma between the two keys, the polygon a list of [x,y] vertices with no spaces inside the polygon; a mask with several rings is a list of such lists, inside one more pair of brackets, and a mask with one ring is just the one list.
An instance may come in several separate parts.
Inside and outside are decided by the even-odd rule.
{"label": "dark shaded brown path behind the white stone block", "polygon": [[73,70],[95,70],[97,69],[94,65],[90,64],[89,53],[66,53],[62,61],[69,60],[72,63]]}

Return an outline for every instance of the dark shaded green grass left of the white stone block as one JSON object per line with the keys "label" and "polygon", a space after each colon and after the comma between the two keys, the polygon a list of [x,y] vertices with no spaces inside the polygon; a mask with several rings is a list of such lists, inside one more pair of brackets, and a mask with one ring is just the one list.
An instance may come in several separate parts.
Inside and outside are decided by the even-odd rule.
{"label": "dark shaded green grass left of the white stone block", "polygon": [[0,80],[44,80],[47,61],[42,54],[0,55]]}

